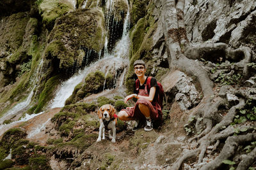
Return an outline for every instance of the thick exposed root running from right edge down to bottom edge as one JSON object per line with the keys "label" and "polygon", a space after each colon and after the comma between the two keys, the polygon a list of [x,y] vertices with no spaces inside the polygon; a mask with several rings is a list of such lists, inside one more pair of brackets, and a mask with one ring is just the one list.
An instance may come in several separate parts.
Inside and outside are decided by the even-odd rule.
{"label": "thick exposed root running from right edge down to bottom edge", "polygon": [[223,149],[221,150],[220,155],[216,157],[216,159],[212,160],[209,164],[206,164],[201,169],[209,170],[209,169],[218,169],[218,167],[223,164],[223,160],[229,159],[236,153],[237,146],[242,145],[243,143],[255,141],[256,133],[250,133],[246,135],[239,136],[230,136],[228,137]]}

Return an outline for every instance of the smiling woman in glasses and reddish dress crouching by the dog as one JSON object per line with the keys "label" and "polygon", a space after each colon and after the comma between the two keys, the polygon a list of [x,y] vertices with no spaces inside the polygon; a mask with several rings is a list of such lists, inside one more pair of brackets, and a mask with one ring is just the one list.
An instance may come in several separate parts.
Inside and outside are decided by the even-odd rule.
{"label": "smiling woman in glasses and reddish dress crouching by the dog", "polygon": [[[135,97],[138,99],[134,107],[128,107],[118,113],[120,120],[136,120],[136,124],[132,131],[138,130],[141,125],[146,122],[145,131],[152,131],[152,121],[161,119],[162,111],[157,101],[157,92],[159,87],[156,78],[145,76],[146,67],[143,60],[136,60],[133,64],[134,73],[138,76],[140,85],[136,88],[136,81],[134,82],[134,94],[125,97],[124,102],[127,103],[130,99]],[[150,90],[147,90],[147,80],[150,81]],[[145,88],[146,87],[146,88]],[[148,92],[149,91],[149,94]]]}

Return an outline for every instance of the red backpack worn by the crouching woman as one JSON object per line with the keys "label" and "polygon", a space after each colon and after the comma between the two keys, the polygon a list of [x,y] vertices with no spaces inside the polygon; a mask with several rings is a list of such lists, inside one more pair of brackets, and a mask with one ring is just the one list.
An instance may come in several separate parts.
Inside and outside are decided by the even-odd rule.
{"label": "red backpack worn by the crouching woman", "polygon": [[[145,94],[148,94],[148,89],[150,90],[151,88],[151,85],[150,85],[151,78],[152,78],[151,76],[148,76],[147,78],[147,85],[145,85]],[[136,80],[135,85],[136,85],[136,90],[139,90],[140,81],[138,79]],[[158,90],[158,96],[157,96],[156,102],[159,104],[161,109],[163,109],[164,89],[163,89],[163,85],[161,85],[161,83],[159,83],[158,81],[157,81],[157,85],[159,87],[159,90]]]}

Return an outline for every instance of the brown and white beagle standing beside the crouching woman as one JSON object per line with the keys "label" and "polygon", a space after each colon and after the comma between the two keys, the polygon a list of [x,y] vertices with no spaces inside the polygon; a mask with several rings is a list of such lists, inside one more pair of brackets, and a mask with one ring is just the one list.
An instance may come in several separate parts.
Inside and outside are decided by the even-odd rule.
{"label": "brown and white beagle standing beside the crouching woman", "polygon": [[[101,133],[102,139],[105,139],[105,130],[108,130],[109,139],[111,139],[112,143],[116,142],[116,124],[117,124],[117,115],[116,110],[110,104],[104,104],[98,110],[98,116],[100,119],[100,128],[99,128],[99,137],[97,142],[101,141]],[[111,135],[111,131],[113,135]]]}

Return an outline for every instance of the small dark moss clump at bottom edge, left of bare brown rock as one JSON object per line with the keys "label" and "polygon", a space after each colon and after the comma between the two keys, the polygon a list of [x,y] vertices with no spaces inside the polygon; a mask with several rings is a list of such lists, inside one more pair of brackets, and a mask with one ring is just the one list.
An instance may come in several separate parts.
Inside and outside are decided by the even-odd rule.
{"label": "small dark moss clump at bottom edge, left of bare brown rock", "polygon": [[51,169],[49,161],[45,157],[29,158],[29,166],[31,166],[32,169]]}

